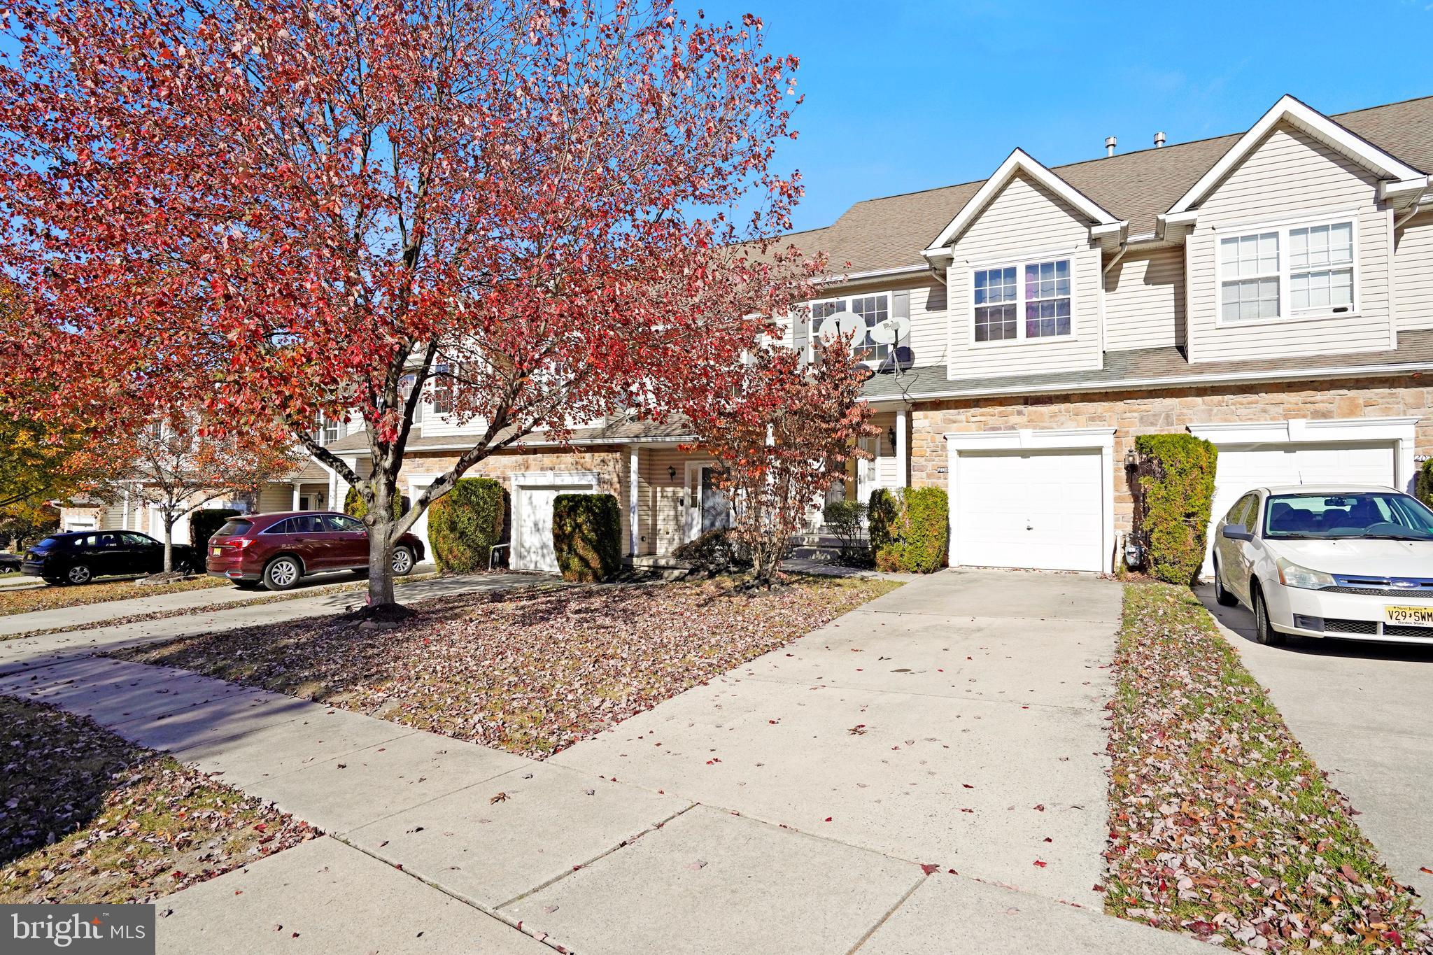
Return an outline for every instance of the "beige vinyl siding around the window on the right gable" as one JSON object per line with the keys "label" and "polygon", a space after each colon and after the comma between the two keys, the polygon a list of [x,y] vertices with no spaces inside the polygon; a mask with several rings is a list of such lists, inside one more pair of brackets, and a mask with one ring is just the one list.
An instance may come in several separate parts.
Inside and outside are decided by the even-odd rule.
{"label": "beige vinyl siding around the window on the right gable", "polygon": [[[1377,179],[1300,130],[1280,126],[1215,186],[1185,246],[1189,361],[1383,351],[1394,345],[1389,238]],[[1290,222],[1357,220],[1358,312],[1219,325],[1218,241]],[[1281,256],[1288,251],[1281,249]],[[1284,289],[1287,296],[1288,291]],[[1287,302],[1284,304],[1287,309]]]}

